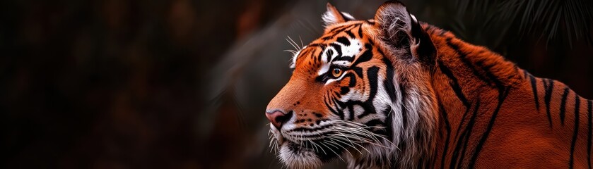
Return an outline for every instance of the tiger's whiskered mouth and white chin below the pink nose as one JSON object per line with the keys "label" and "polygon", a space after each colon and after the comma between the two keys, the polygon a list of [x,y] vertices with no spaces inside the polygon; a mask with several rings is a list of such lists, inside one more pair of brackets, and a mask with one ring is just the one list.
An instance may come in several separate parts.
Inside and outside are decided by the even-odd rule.
{"label": "tiger's whiskered mouth and white chin below the pink nose", "polygon": [[385,135],[372,132],[375,129],[384,132],[383,127],[368,127],[345,121],[334,121],[334,124],[316,128],[298,127],[282,131],[271,127],[270,147],[289,166],[310,164],[312,161],[329,163],[338,158],[344,160],[343,157],[348,154],[363,154],[365,146],[370,144],[382,146],[383,142],[389,142]]}

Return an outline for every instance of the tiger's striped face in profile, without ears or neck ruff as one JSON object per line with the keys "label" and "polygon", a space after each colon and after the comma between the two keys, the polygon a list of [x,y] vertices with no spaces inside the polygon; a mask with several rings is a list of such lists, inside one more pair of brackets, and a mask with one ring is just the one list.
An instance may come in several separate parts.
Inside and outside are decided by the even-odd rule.
{"label": "tiger's striped face in profile, without ears or neck ruff", "polygon": [[336,26],[295,56],[292,77],[266,110],[286,163],[317,164],[386,139],[392,68],[364,24]]}

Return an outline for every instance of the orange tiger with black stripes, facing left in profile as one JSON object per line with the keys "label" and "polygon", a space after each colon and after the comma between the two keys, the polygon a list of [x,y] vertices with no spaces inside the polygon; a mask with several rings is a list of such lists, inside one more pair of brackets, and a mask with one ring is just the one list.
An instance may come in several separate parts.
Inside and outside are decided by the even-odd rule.
{"label": "orange tiger with black stripes, facing left in profile", "polygon": [[592,101],[399,1],[356,20],[327,4],[266,107],[287,168],[592,168]]}

